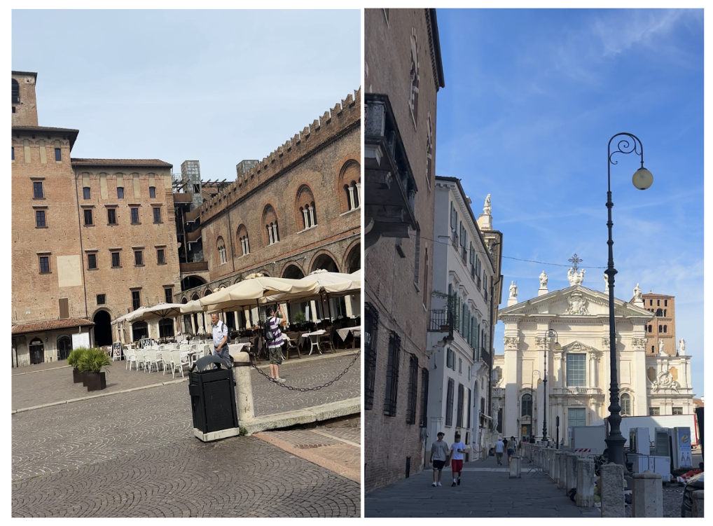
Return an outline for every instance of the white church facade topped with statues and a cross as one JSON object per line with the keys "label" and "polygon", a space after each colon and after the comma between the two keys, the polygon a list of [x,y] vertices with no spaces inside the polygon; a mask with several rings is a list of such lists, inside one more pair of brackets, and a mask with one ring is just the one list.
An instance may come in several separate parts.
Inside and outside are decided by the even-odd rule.
{"label": "white church facade topped with statues and a cross", "polygon": [[[538,296],[523,302],[511,285],[508,307],[498,316],[505,324],[505,351],[493,363],[493,414],[504,436],[540,440],[545,403],[548,440],[555,439],[559,420],[564,443],[568,428],[590,426],[609,414],[609,292],[584,287],[584,272],[570,269],[571,286],[553,292],[543,272]],[[690,356],[684,356],[683,344],[676,356],[663,350],[647,356],[650,319],[638,285],[631,302],[615,299],[621,414],[691,414]]]}

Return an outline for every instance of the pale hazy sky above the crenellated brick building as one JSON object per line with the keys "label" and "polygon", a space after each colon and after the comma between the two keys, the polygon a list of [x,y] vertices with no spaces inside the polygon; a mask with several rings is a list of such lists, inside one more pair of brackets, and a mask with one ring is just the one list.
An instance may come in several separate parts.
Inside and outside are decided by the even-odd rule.
{"label": "pale hazy sky above the crenellated brick building", "polygon": [[73,157],[160,158],[235,180],[361,85],[349,11],[12,12],[12,68]]}

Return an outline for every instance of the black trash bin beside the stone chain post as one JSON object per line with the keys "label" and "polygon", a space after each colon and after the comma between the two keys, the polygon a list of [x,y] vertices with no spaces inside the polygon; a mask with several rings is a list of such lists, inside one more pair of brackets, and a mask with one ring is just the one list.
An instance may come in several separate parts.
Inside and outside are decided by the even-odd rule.
{"label": "black trash bin beside the stone chain post", "polygon": [[210,442],[240,434],[232,371],[220,357],[205,356],[193,364],[188,373],[188,393],[196,438]]}

